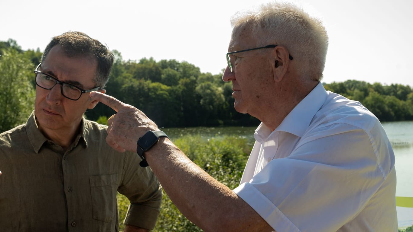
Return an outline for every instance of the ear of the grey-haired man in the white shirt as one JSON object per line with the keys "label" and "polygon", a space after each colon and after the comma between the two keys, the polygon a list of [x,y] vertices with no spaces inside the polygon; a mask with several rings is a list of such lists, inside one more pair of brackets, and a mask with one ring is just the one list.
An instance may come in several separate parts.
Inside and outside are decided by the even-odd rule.
{"label": "ear of the grey-haired man in the white shirt", "polygon": [[273,51],[273,77],[275,82],[280,82],[287,73],[291,60],[289,59],[289,53],[284,46],[278,45]]}

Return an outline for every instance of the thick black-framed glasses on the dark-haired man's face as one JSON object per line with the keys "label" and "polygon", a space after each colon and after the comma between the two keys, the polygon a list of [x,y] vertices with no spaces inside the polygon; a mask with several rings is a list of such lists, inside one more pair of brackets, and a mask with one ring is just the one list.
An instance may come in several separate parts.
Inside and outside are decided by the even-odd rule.
{"label": "thick black-framed glasses on the dark-haired man's face", "polygon": [[35,79],[36,84],[38,87],[50,90],[55,87],[56,84],[60,84],[60,91],[65,98],[69,98],[70,100],[77,101],[82,96],[82,94],[89,93],[91,91],[95,91],[100,89],[100,87],[95,87],[93,89],[84,90],[76,85],[69,84],[66,82],[61,82],[57,80],[55,77],[47,75],[45,73],[40,72],[38,69],[42,63],[40,63],[34,73],[36,73]]}

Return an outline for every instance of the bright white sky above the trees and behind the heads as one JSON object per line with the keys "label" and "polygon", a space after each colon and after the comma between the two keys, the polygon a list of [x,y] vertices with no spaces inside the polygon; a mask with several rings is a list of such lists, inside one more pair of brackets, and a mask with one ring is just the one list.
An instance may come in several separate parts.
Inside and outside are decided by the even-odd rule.
{"label": "bright white sky above the trees and behind the heads", "polygon": [[[78,30],[121,52],[188,61],[201,72],[225,68],[238,10],[268,0],[1,0],[0,40],[44,50],[55,35]],[[413,87],[412,0],[291,0],[317,16],[330,45],[323,82],[349,79]]]}

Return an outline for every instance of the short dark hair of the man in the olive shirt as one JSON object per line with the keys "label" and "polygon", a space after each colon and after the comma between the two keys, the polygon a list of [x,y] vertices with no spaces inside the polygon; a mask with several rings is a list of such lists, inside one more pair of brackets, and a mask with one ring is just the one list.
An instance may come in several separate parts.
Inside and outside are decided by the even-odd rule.
{"label": "short dark hair of the man in the olive shirt", "polygon": [[101,42],[92,39],[85,33],[68,31],[53,37],[52,41],[46,46],[45,52],[43,52],[42,61],[55,45],[62,46],[64,53],[69,57],[90,56],[95,58],[97,60],[97,70],[94,82],[96,86],[105,87],[114,60],[114,55],[107,46],[102,45]]}

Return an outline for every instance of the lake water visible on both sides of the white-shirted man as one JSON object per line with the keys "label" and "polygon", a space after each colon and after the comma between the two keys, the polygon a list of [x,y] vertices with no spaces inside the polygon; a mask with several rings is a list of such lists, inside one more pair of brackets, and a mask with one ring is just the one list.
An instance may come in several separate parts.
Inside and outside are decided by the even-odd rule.
{"label": "lake water visible on both sides of the white-shirted man", "polygon": [[[392,143],[396,157],[397,187],[396,196],[413,197],[413,121],[383,122],[387,136]],[[200,135],[205,139],[216,136],[232,135],[247,138],[252,148],[256,127],[195,127],[195,128],[165,128],[163,131],[171,139],[183,135]],[[413,208],[397,207],[399,227],[413,225]]]}

